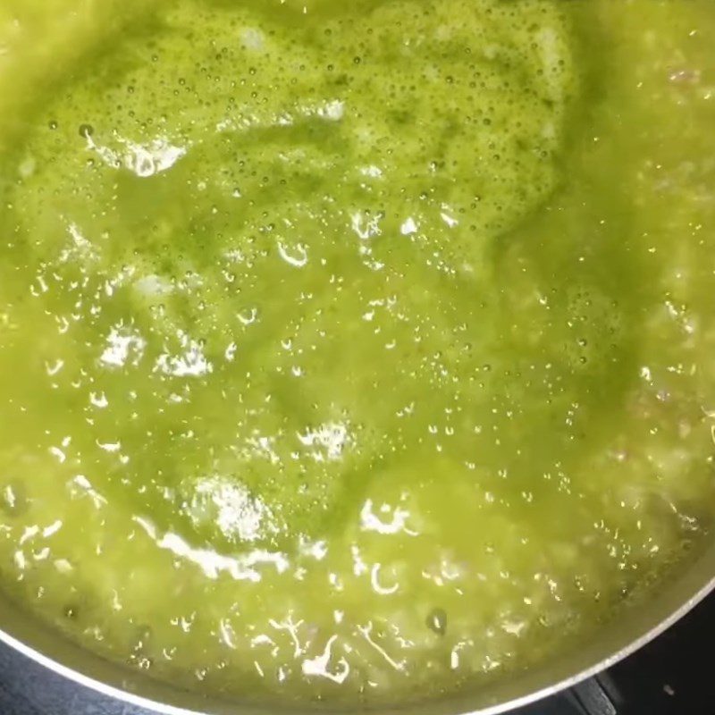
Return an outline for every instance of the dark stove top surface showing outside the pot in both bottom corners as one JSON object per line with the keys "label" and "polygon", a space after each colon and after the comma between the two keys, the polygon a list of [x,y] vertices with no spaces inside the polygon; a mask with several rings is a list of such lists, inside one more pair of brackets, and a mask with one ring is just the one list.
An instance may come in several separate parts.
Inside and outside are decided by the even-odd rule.
{"label": "dark stove top surface showing outside the pot in both bottom corners", "polygon": [[[713,715],[715,593],[652,644],[510,715]],[[0,644],[0,715],[154,715],[94,693]]]}

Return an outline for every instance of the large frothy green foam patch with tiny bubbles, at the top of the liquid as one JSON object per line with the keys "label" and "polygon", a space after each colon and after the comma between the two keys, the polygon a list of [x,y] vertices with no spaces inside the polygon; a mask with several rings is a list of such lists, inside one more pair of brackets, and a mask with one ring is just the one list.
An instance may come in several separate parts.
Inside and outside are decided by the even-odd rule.
{"label": "large frothy green foam patch with tiny bubbles, at the top of the liquid", "polygon": [[[324,4],[306,20],[290,6],[187,1],[165,23],[158,37],[124,41],[121,71],[84,68],[46,110],[54,133],[27,145],[37,170],[20,210],[44,247],[63,240],[57,215],[80,225],[105,216],[114,248],[141,250],[171,208],[155,200],[139,225],[113,216],[140,190],[132,175],[158,180],[179,162],[182,175],[167,181],[196,206],[211,256],[259,223],[285,232],[290,220],[303,240],[346,242],[350,216],[370,210],[385,253],[409,222],[422,260],[453,271],[559,181],[576,80],[556,4]],[[199,223],[201,193],[214,206]],[[315,235],[321,216],[327,230]]]}

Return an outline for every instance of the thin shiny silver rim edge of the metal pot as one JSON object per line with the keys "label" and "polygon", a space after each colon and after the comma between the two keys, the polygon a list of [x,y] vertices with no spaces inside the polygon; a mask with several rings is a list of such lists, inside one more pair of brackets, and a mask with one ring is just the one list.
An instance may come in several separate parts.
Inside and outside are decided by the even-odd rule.
{"label": "thin shiny silver rim edge of the metal pot", "polygon": [[[557,694],[562,690],[566,690],[568,687],[576,686],[578,683],[592,677],[602,670],[610,668],[612,665],[617,663],[619,660],[623,660],[631,653],[642,648],[645,644],[650,643],[654,638],[663,633],[669,627],[674,625],[677,620],[683,618],[686,613],[694,609],[694,607],[700,603],[708,594],[715,590],[715,576],[713,576],[705,585],[703,585],[694,595],[681,604],[676,610],[673,610],[667,618],[664,618],[656,626],[650,628],[644,634],[640,635],[638,638],[619,649],[617,652],[613,652],[606,658],[597,660],[593,665],[588,666],[585,669],[581,669],[575,674],[559,679],[556,683],[550,686],[545,686],[534,690],[532,693],[526,695],[512,698],[505,702],[499,702],[494,705],[487,706],[474,711],[462,711],[461,715],[499,715],[499,713],[515,710],[519,707],[523,707],[532,702],[536,702],[545,697],[553,694]],[[171,705],[166,702],[158,702],[156,700],[151,700],[141,695],[132,694],[126,690],[122,690],[116,686],[110,686],[103,683],[101,680],[89,677],[84,673],[81,673],[77,669],[72,669],[68,666],[63,665],[58,660],[46,656],[44,653],[39,652],[35,648],[32,648],[28,644],[22,643],[13,635],[6,633],[4,630],[0,629],[0,641],[4,644],[10,646],[22,655],[27,656],[29,659],[34,660],[39,665],[55,672],[57,675],[66,677],[69,680],[77,683],[80,686],[88,687],[99,694],[105,695],[107,697],[114,698],[116,700],[135,705],[140,708],[147,709],[149,711],[156,711],[162,715],[208,715],[211,711],[197,711],[189,710],[186,708],[178,707],[176,705]],[[237,706],[237,712],[240,712],[240,706]]]}

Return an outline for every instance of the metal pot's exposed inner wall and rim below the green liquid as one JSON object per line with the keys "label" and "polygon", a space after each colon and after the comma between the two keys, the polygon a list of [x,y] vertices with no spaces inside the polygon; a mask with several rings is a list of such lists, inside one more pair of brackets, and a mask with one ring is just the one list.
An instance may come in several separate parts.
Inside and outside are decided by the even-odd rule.
{"label": "metal pot's exposed inner wall and rim below the green liquid", "polygon": [[[69,50],[68,50],[69,51]],[[635,652],[684,616],[715,588],[715,539],[702,543],[669,570],[656,589],[644,585],[618,604],[585,641],[574,641],[528,670],[495,679],[478,689],[462,689],[440,699],[410,703],[410,715],[496,715],[574,686]],[[702,542],[707,542],[703,539]],[[160,682],[137,669],[130,669],[58,635],[57,631],[31,617],[21,605],[0,600],[0,639],[32,660],[63,677],[124,702],[175,715],[269,715],[277,710],[270,703],[235,702],[208,698],[179,683]],[[315,706],[315,710],[323,710]],[[292,706],[282,706],[282,715],[299,715]],[[400,708],[381,711],[397,713]]]}

